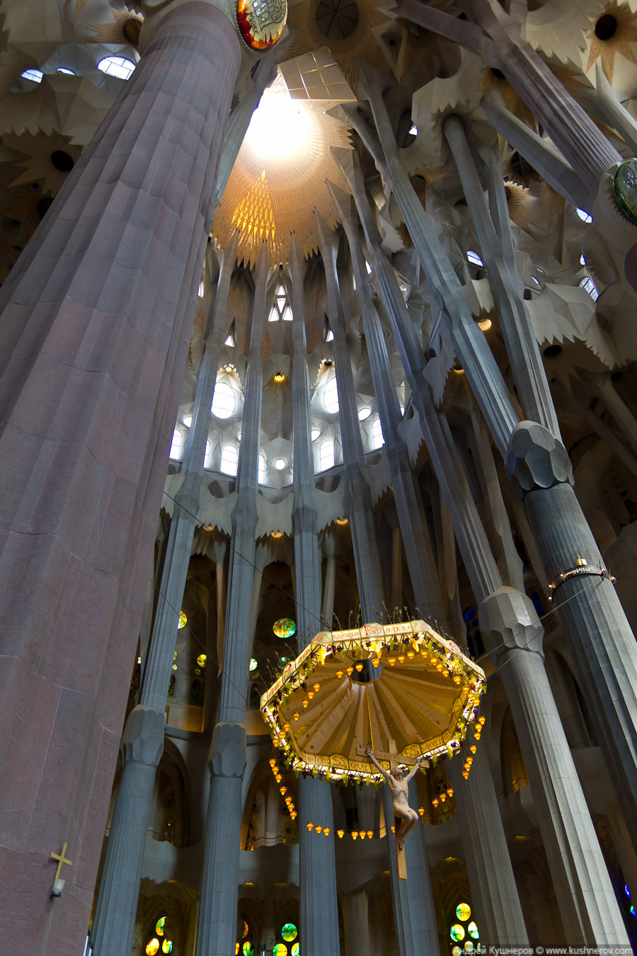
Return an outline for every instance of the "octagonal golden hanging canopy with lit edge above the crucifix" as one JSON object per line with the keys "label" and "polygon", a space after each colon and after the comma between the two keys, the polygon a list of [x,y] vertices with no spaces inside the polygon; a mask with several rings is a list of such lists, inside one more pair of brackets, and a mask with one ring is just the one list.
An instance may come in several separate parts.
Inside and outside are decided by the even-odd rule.
{"label": "octagonal golden hanging canopy with lit edge above the crucifix", "polygon": [[317,634],[261,711],[293,769],[377,780],[368,746],[386,769],[451,756],[485,689],[481,668],[424,620],[366,624]]}

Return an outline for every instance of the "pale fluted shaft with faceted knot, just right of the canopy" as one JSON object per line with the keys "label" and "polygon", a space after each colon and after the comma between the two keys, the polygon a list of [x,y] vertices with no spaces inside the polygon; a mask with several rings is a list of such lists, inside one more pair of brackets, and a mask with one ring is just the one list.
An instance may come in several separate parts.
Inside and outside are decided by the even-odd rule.
{"label": "pale fluted shaft with faceted knot, just right of the canopy", "polygon": [[564,931],[576,945],[627,945],[622,915],[544,670],[530,597],[500,588],[479,607],[480,630],[520,740]]}

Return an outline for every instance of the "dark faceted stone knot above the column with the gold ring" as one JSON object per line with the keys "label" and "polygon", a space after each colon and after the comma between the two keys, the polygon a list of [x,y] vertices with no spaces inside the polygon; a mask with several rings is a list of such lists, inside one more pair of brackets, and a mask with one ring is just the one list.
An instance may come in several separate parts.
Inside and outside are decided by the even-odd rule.
{"label": "dark faceted stone knot above the column with the gold ring", "polygon": [[520,498],[528,491],[573,485],[573,467],[562,442],[537,422],[520,422],[513,429],[506,472]]}

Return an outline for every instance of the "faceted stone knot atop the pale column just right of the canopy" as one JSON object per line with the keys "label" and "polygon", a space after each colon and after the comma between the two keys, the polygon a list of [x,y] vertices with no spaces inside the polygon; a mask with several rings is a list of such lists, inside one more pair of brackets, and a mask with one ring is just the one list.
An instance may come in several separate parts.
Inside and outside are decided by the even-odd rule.
{"label": "faceted stone knot atop the pale column just right of the canopy", "polygon": [[531,598],[515,588],[501,587],[485,597],[478,607],[478,619],[496,660],[511,650],[532,651],[543,657],[544,631],[538,612]]}

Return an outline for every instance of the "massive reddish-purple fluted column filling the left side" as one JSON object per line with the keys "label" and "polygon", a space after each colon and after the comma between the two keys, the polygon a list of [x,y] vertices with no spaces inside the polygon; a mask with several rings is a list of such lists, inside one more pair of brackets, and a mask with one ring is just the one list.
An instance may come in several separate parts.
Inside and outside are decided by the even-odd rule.
{"label": "massive reddish-purple fluted column filling the left side", "polygon": [[127,696],[112,678],[138,641],[241,55],[210,4],[168,12],[0,294],[0,924],[30,952],[45,933],[79,951],[89,923]]}

